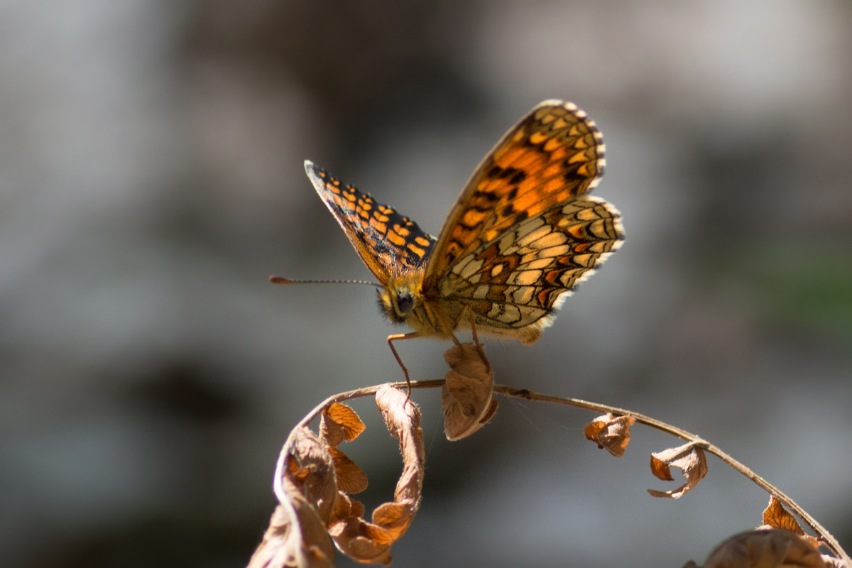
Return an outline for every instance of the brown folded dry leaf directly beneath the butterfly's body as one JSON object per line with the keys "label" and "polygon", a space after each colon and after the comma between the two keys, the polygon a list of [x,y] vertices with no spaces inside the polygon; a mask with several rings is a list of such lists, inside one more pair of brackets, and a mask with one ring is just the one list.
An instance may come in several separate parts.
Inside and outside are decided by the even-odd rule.
{"label": "brown folded dry leaf directly beneath the butterfly's body", "polygon": [[481,347],[463,343],[444,353],[450,370],[440,389],[440,404],[444,407],[444,433],[451,441],[475,433],[497,412],[492,398],[494,373]]}

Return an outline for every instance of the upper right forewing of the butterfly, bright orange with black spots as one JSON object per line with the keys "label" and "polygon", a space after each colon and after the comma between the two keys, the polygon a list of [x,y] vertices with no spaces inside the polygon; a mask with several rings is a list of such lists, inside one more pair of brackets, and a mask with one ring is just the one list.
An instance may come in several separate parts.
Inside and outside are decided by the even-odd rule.
{"label": "upper right forewing of the butterfly, bright orange with black spots", "polygon": [[539,104],[498,142],[447,217],[425,289],[516,224],[584,195],[604,166],[595,123],[572,103]]}

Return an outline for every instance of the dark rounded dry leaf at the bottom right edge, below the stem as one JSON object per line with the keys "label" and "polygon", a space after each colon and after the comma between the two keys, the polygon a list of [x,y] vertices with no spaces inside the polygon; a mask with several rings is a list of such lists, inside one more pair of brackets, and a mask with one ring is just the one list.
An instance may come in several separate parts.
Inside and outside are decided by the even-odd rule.
{"label": "dark rounded dry leaf at the bottom right edge, below the stem", "polygon": [[757,529],[740,532],[722,542],[700,568],[828,568],[828,565],[820,552],[801,536],[779,529]]}

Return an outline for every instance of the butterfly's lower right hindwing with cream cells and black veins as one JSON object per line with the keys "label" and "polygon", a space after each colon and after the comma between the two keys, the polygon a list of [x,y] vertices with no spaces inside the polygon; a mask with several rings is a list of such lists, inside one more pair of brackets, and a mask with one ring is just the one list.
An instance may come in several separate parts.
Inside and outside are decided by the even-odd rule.
{"label": "butterfly's lower right hindwing with cream cells and black veins", "polygon": [[485,330],[535,341],[561,301],[619,248],[620,218],[601,198],[557,204],[465,255],[440,280],[440,296],[469,305]]}

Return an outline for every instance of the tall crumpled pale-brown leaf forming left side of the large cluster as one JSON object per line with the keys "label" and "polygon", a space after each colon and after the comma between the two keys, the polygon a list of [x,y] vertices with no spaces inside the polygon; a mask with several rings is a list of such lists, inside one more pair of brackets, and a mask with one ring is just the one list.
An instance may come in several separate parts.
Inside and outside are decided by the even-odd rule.
{"label": "tall crumpled pale-brown leaf forming left side of the large cluster", "polygon": [[334,548],[325,528],[337,496],[331,455],[308,428],[291,433],[282,455],[279,506],[249,568],[331,566]]}

